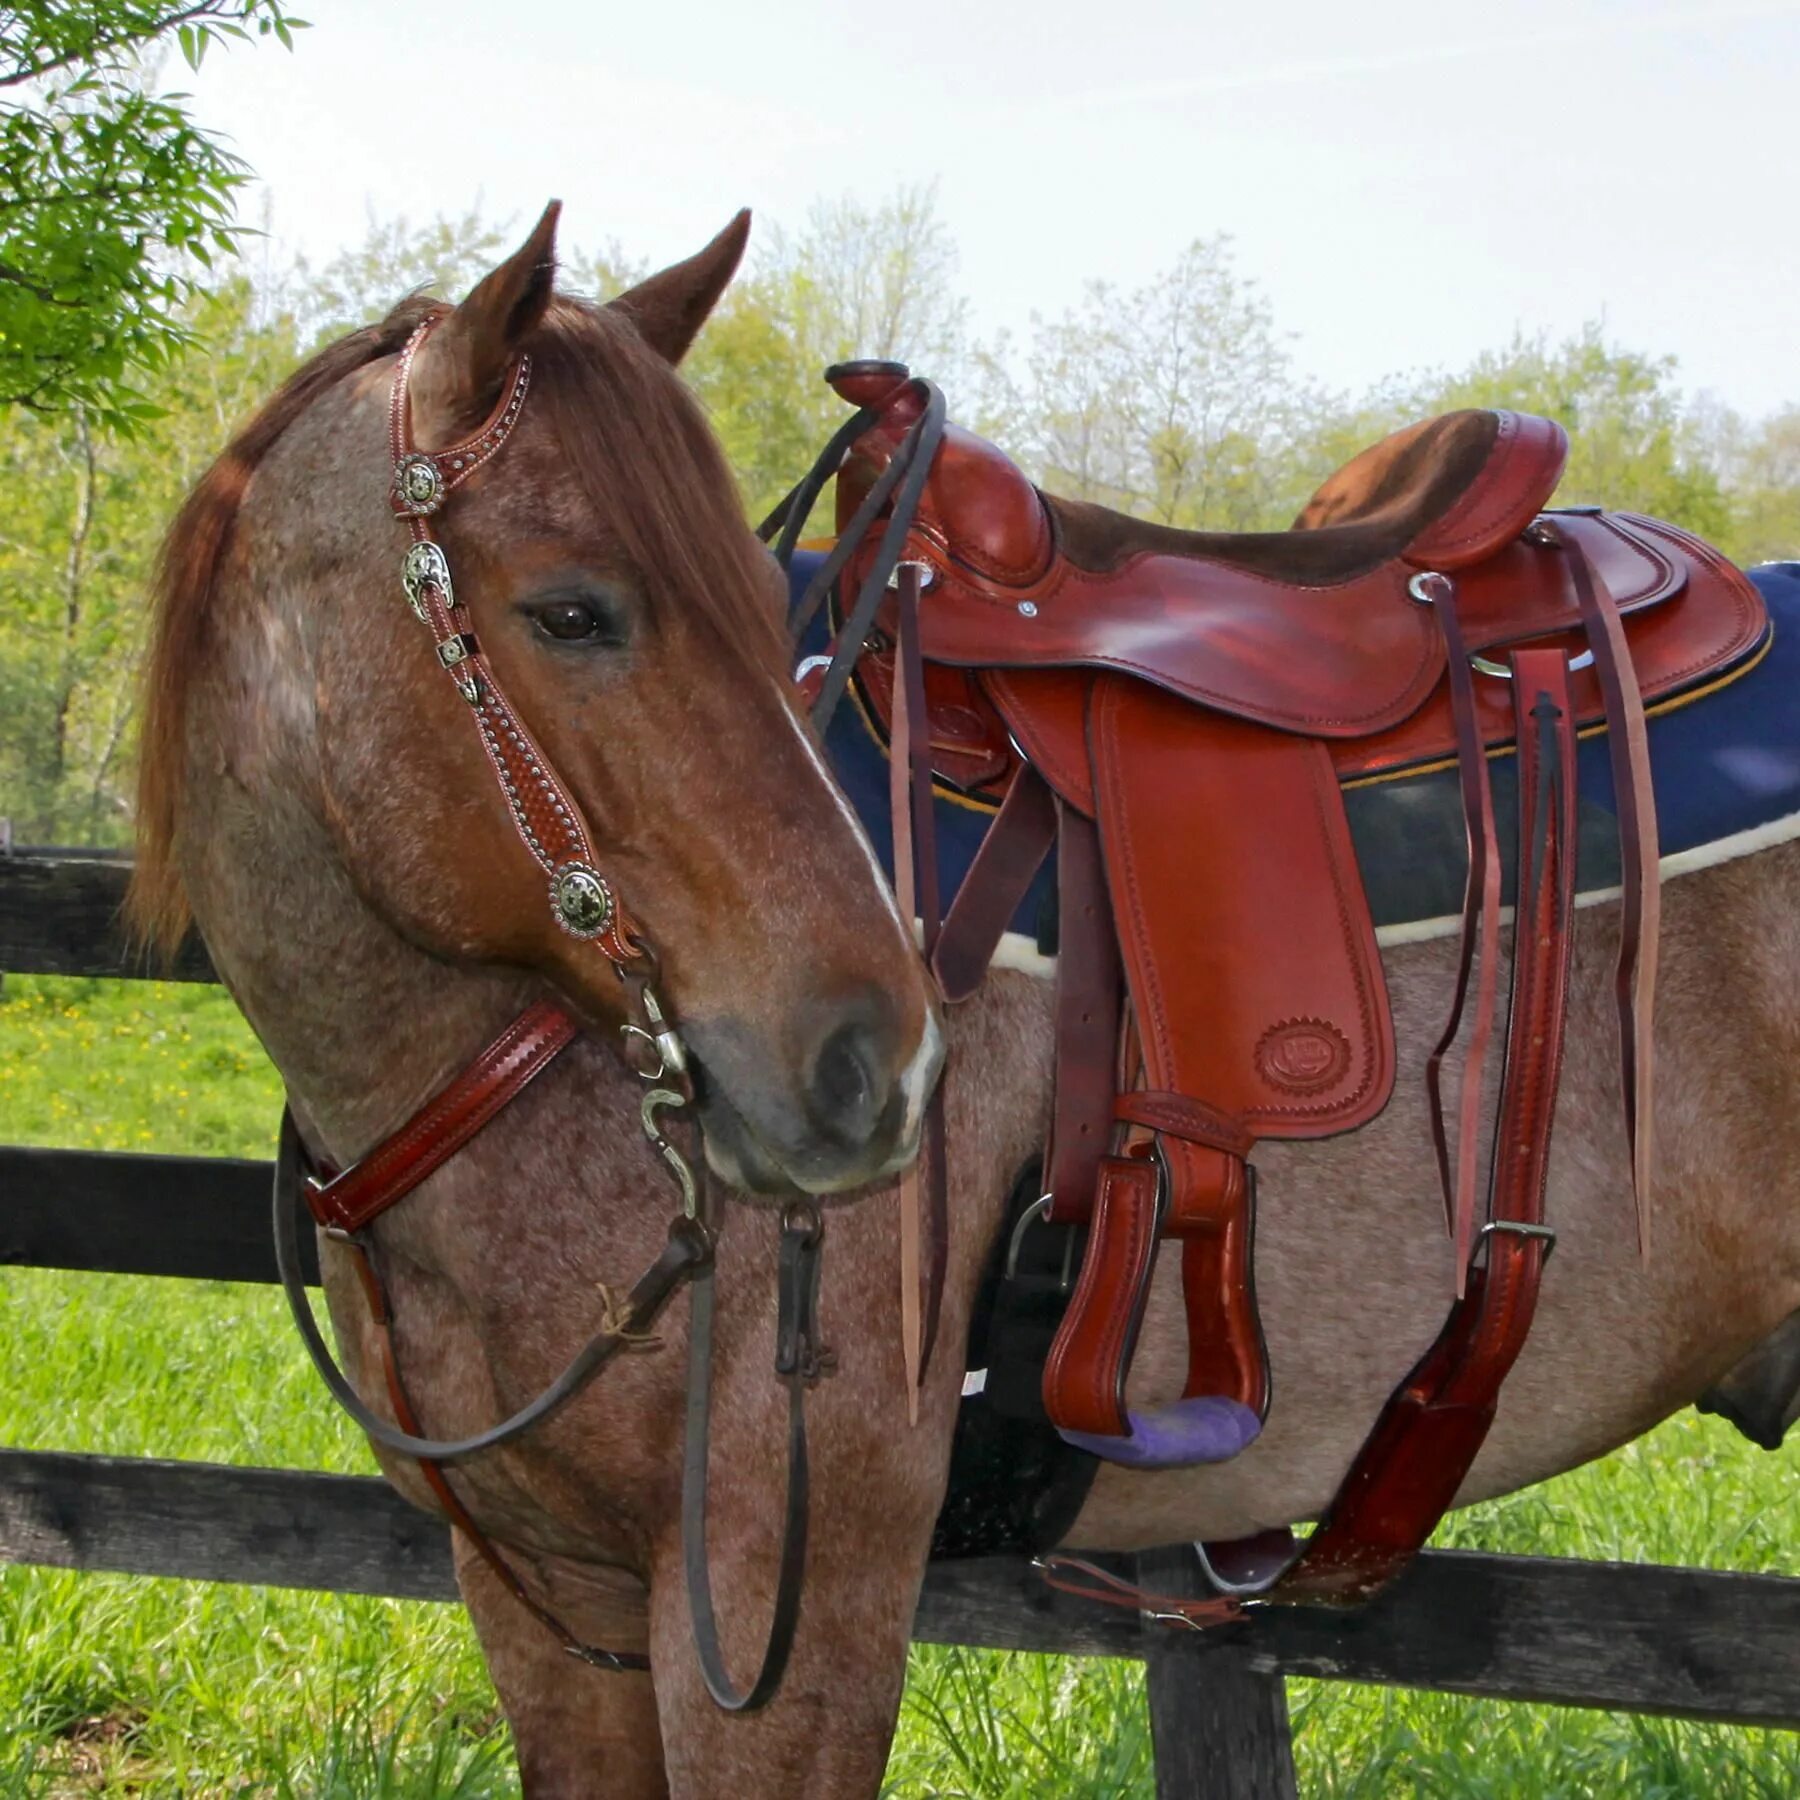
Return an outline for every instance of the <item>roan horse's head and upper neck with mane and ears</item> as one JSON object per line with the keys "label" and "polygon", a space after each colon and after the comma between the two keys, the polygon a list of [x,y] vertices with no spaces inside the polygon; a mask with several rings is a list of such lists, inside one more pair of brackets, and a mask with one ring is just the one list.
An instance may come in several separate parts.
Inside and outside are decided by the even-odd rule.
{"label": "roan horse's head and upper neck with mane and ears", "polygon": [[[281,1039],[297,1012],[324,1022],[313,990],[351,963],[376,985],[416,972],[338,997],[362,1031],[371,1004],[378,1030],[419,1030],[421,986],[450,970],[547,985],[603,1028],[626,997],[558,916],[520,770],[472,729],[473,684],[445,679],[409,612],[398,374],[410,448],[455,463],[430,536],[457,630],[542,754],[544,805],[567,801],[607,904],[653,947],[713,1166],[824,1193],[913,1154],[941,1057],[925,976],[799,709],[781,574],[677,374],[747,229],[596,306],[554,292],[553,205],[459,306],[405,301],[315,356],[176,520],[135,907],[169,936],[193,905],[302,1103],[290,1064],[322,1058],[317,1033],[293,1057]],[[454,446],[495,419],[504,446],[464,470]]]}

